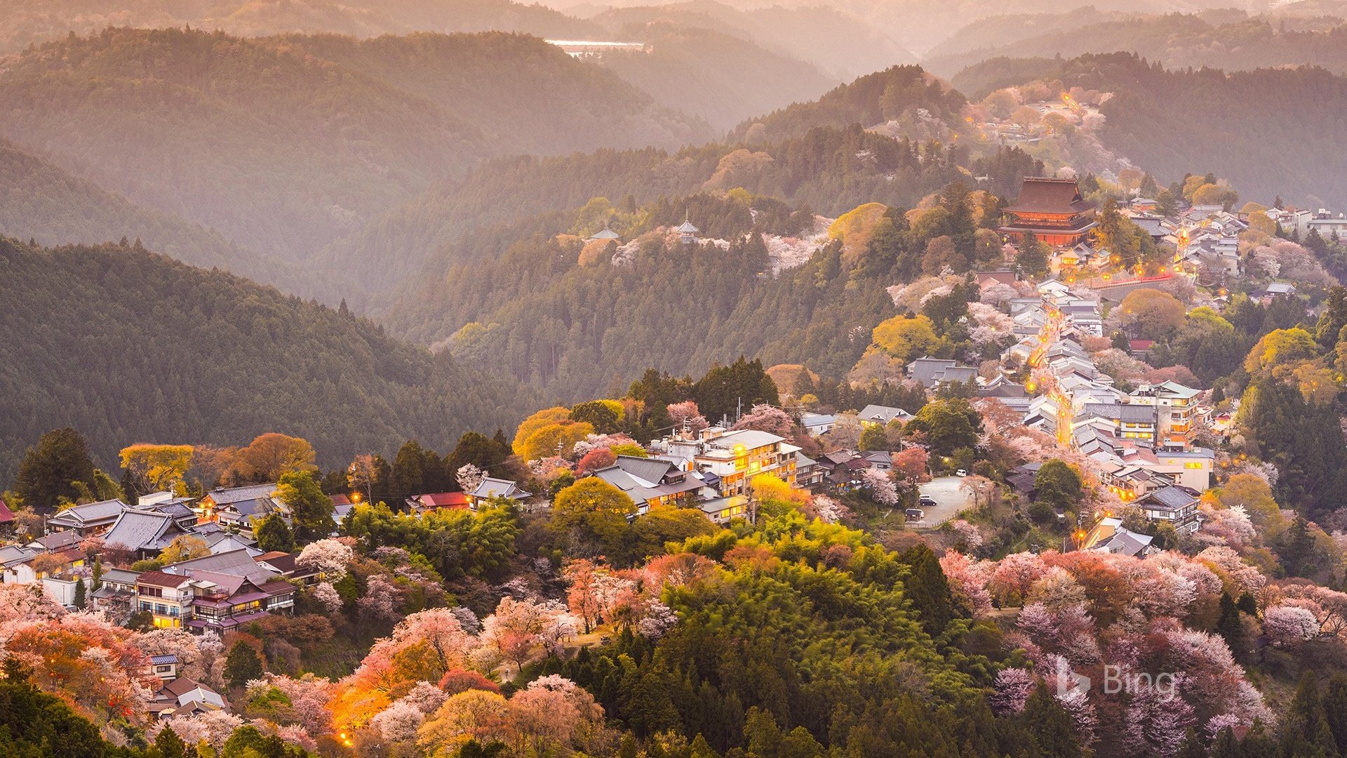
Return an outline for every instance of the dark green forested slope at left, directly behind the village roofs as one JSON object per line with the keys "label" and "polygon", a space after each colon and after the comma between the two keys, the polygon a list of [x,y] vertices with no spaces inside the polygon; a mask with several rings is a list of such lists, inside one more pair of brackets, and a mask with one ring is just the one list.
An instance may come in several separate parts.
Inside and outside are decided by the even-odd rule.
{"label": "dark green forested slope at left, directly behind the village roofs", "polygon": [[0,333],[22,336],[0,340],[0,479],[34,429],[74,426],[112,468],[128,441],[286,432],[331,467],[409,436],[450,446],[529,406],[343,309],[140,248],[0,239]]}

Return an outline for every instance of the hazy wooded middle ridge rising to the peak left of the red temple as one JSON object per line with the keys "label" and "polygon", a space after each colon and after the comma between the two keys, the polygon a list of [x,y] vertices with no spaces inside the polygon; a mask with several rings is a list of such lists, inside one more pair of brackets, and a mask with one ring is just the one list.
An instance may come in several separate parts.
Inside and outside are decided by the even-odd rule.
{"label": "hazy wooded middle ridge rising to the peak left of the red temple", "polygon": [[[358,232],[334,241],[318,259],[318,268],[346,281],[339,291],[327,293],[329,298],[345,297],[362,313],[383,314],[399,308],[389,298],[405,286],[405,281],[438,276],[462,255],[475,258],[484,250],[451,244],[465,235],[536,214],[570,210],[591,197],[643,205],[700,189],[742,186],[757,194],[807,204],[820,213],[842,213],[872,200],[915,204],[956,175],[962,154],[920,144],[936,136],[928,121],[905,124],[915,131],[932,132],[915,134],[912,142],[890,139],[904,136],[901,134],[862,132],[861,125],[884,121],[881,101],[900,116],[925,108],[936,123],[962,127],[959,93],[917,66],[898,66],[861,77],[818,101],[741,124],[726,143],[672,154],[601,150],[560,158],[494,161],[463,179],[438,182]],[[929,151],[929,161],[920,158],[923,151]],[[447,262],[422,274],[422,264],[436,259]],[[416,325],[404,322],[403,326],[415,329]],[[427,341],[445,336],[418,332],[418,339]]]}

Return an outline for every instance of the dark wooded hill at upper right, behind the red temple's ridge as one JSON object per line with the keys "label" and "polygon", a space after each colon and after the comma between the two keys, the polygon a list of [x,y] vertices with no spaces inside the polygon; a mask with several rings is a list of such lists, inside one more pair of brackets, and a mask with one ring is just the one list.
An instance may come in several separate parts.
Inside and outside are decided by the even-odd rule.
{"label": "dark wooded hill at upper right, behind the red temple's ridge", "polygon": [[1111,53],[1070,61],[997,58],[954,78],[974,97],[1032,81],[1111,93],[1099,107],[1099,139],[1157,178],[1220,166],[1249,197],[1347,205],[1347,156],[1328,148],[1347,139],[1347,77],[1320,67],[1169,70]]}

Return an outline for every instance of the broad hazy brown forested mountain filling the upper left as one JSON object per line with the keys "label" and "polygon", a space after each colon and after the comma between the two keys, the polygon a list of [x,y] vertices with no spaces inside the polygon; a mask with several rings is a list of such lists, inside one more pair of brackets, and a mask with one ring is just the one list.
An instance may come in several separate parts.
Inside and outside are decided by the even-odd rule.
{"label": "broad hazy brown forested mountain filling the upper left", "polygon": [[[414,71],[379,69],[362,45],[465,86],[431,100]],[[288,263],[490,155],[710,134],[602,69],[508,34],[356,43],[108,30],[7,59],[0,101],[0,134],[15,144]]]}

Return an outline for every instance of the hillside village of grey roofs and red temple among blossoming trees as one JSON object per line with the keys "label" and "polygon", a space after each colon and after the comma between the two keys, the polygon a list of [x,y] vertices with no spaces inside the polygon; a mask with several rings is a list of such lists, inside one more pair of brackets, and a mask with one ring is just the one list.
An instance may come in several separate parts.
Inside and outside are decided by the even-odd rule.
{"label": "hillside village of grey roofs and red temple among blossoming trees", "polygon": [[[271,723],[276,734],[314,749],[376,739],[369,734],[385,728],[369,731],[380,707],[342,704],[341,692],[365,687],[360,677],[369,666],[366,660],[349,673],[358,662],[349,657],[350,646],[434,614],[446,591],[463,604],[453,608],[457,620],[440,623],[480,633],[474,645],[496,650],[489,662],[471,664],[473,676],[508,684],[528,666],[560,665],[552,661],[594,645],[593,627],[609,624],[609,634],[659,627],[651,633],[653,643],[676,623],[657,592],[628,595],[621,602],[626,615],[613,610],[618,600],[612,596],[599,603],[602,610],[586,610],[577,588],[593,576],[620,581],[626,576],[621,571],[657,560],[665,549],[696,549],[718,534],[748,535],[796,510],[816,525],[858,529],[894,550],[929,545],[943,554],[939,565],[954,602],[970,618],[983,618],[993,603],[1012,608],[1029,602],[1028,587],[1012,596],[987,579],[995,561],[1086,560],[1063,558],[1080,554],[1150,561],[1145,571],[1192,561],[1220,566],[1227,579],[1238,571],[1258,575],[1239,564],[1242,552],[1269,575],[1296,566],[1289,568],[1293,576],[1340,583],[1347,523],[1340,511],[1329,513],[1331,495],[1303,495],[1285,510],[1231,504],[1234,488],[1265,492],[1270,502],[1278,484],[1270,461],[1282,459],[1268,450],[1269,463],[1257,460],[1258,448],[1243,441],[1255,421],[1242,415],[1241,398],[1226,394],[1227,382],[1203,382],[1196,374],[1227,371],[1176,361],[1152,368],[1145,361],[1177,351],[1176,330],[1192,320],[1224,324],[1249,309],[1292,313],[1247,360],[1235,356],[1249,374],[1258,370],[1255,357],[1274,347],[1280,356],[1270,364],[1297,355],[1286,347],[1300,340],[1289,334],[1296,324],[1328,324],[1327,332],[1338,321],[1347,326],[1342,287],[1328,289],[1324,276],[1301,278],[1294,262],[1270,260],[1247,245],[1247,232],[1259,228],[1286,239],[1336,241],[1347,236],[1347,223],[1327,210],[1160,205],[1138,196],[1099,209],[1076,179],[1026,178],[995,229],[1002,266],[964,275],[946,268],[890,290],[900,316],[885,322],[889,328],[981,330],[981,361],[948,356],[935,333],[919,339],[916,332],[902,332],[908,360],[900,360],[902,351],[881,324],[862,363],[884,353],[881,363],[900,364],[901,372],[842,394],[816,386],[804,366],[764,368],[741,359],[698,382],[651,371],[625,397],[532,414],[512,442],[501,433],[469,433],[443,459],[408,442],[392,464],[370,455],[327,475],[314,465],[307,442],[280,434],[241,448],[283,448],[272,456],[276,463],[217,467],[213,477],[198,473],[205,450],[133,445],[123,452],[120,483],[96,472],[93,482],[81,483],[84,496],[61,496],[59,508],[23,507],[16,494],[5,495],[12,502],[0,502],[5,591],[9,597],[27,593],[27,602],[47,608],[43,614],[93,612],[98,623],[155,641],[143,645],[143,669],[125,673],[139,688],[131,697],[137,711],[125,716],[131,723],[171,724],[189,742],[216,739],[211,723]],[[1110,237],[1126,239],[1118,218],[1145,244],[1133,239],[1130,252],[1110,250]],[[1100,229],[1107,225],[1114,229]],[[727,250],[723,240],[703,239],[692,218],[664,233],[671,244]],[[824,241],[819,229],[812,233],[815,244]],[[607,227],[586,245],[613,252],[614,263],[624,255],[621,236]],[[1138,256],[1142,248],[1150,252]],[[933,318],[946,301],[956,314]],[[908,308],[912,302],[920,316]],[[1161,312],[1171,322],[1157,326],[1152,317]],[[1281,341],[1268,343],[1272,334]],[[1313,359],[1313,349],[1296,344],[1300,360]],[[1277,375],[1288,371],[1315,397],[1317,390],[1305,388],[1320,378],[1315,366]],[[1328,382],[1340,384],[1342,376]],[[77,434],[62,434],[62,444],[75,444],[70,436]],[[30,459],[40,457],[36,450],[46,442]],[[1335,444],[1342,448],[1340,440]],[[89,496],[92,487],[116,496]],[[1307,514],[1325,521],[1315,523]],[[1265,537],[1255,534],[1254,518]],[[506,537],[493,542],[482,531],[488,527]],[[1281,553],[1292,534],[1315,548],[1270,568],[1268,548]],[[555,552],[517,554],[525,535]],[[1268,542],[1255,548],[1262,540]],[[986,571],[974,572],[968,560]],[[1258,581],[1269,583],[1258,593],[1263,604],[1238,581],[1226,583],[1224,600],[1242,592],[1249,597],[1231,611],[1235,631],[1220,630],[1238,657],[1254,646],[1304,651],[1315,641],[1340,643],[1347,595],[1321,588],[1313,608],[1285,606],[1282,599],[1300,597],[1304,585],[1272,592],[1270,577],[1258,575]],[[532,608],[535,619],[523,643],[492,631],[516,606]],[[1278,626],[1276,614],[1284,607],[1311,608],[1304,612],[1313,629],[1301,634]],[[330,720],[268,722],[259,692],[299,687],[283,672],[298,676],[299,661],[307,661],[300,647],[306,635],[348,655],[342,684],[304,680],[322,692],[307,696],[331,699],[331,713],[323,716]],[[1249,705],[1233,723],[1247,728],[1261,708]],[[422,723],[428,715],[418,718]],[[392,739],[395,731],[389,727],[379,739]]]}

